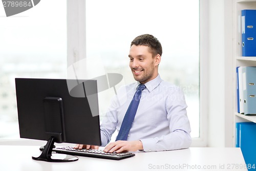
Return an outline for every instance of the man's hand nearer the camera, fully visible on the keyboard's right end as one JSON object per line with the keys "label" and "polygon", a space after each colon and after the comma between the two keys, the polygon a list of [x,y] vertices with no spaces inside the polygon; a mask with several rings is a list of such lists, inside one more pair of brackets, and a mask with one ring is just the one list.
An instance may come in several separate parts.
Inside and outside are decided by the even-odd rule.
{"label": "man's hand nearer the camera, fully visible on the keyboard's right end", "polygon": [[104,152],[135,152],[139,149],[143,149],[142,142],[140,140],[138,141],[115,141],[111,142],[108,145],[105,146]]}

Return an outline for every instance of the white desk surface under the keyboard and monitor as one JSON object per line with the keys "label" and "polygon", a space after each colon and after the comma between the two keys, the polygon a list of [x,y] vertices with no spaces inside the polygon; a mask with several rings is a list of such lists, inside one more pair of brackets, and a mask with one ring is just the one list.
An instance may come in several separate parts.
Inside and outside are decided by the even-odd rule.
{"label": "white desk surface under the keyboard and monitor", "polygon": [[35,161],[38,146],[0,145],[0,170],[247,170],[240,148],[191,147],[166,152],[136,152],[120,161],[78,157],[68,163]]}

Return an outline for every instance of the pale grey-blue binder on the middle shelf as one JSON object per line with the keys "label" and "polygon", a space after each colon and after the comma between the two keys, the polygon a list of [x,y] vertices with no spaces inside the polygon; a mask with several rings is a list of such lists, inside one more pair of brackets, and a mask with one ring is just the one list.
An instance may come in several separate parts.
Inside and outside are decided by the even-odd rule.
{"label": "pale grey-blue binder on the middle shelf", "polygon": [[244,114],[256,115],[256,67],[243,67]]}

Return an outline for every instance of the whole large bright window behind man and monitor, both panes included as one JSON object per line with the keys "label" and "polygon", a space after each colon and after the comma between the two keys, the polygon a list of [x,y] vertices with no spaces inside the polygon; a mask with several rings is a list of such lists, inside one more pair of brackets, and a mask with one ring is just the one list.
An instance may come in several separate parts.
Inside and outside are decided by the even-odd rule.
{"label": "whole large bright window behind man and monitor, both panes included", "polygon": [[[145,33],[160,40],[161,78],[185,93],[191,136],[200,138],[199,0],[67,2],[40,1],[28,11],[0,17],[0,129],[8,130],[0,139],[18,137],[15,77],[66,78],[67,65],[86,52],[88,59],[99,59],[94,72],[123,75],[118,89],[134,81],[127,55],[133,38]],[[5,15],[4,9],[0,14]],[[100,114],[114,93],[99,93]]]}

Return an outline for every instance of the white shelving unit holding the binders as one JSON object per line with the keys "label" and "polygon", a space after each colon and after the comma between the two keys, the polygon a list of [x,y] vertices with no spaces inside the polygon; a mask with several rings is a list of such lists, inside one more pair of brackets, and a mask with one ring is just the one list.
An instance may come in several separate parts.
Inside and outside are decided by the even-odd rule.
{"label": "white shelving unit holding the binders", "polygon": [[[233,17],[233,22],[234,22],[234,75],[233,78],[236,78],[236,67],[240,66],[255,66],[256,67],[256,56],[253,57],[244,57],[242,56],[242,31],[241,31],[241,10],[243,9],[256,9],[256,0],[234,0],[233,1],[234,5],[234,17]],[[236,82],[237,80],[234,79],[234,87],[236,88]],[[235,90],[236,91],[236,90]],[[234,93],[235,95],[233,103],[237,103],[237,94]],[[243,115],[237,112],[237,104],[235,104],[236,108],[234,108],[234,122],[254,122],[256,123],[256,116],[247,116]],[[235,129],[234,129],[235,130]],[[236,135],[236,134],[234,134]]]}

